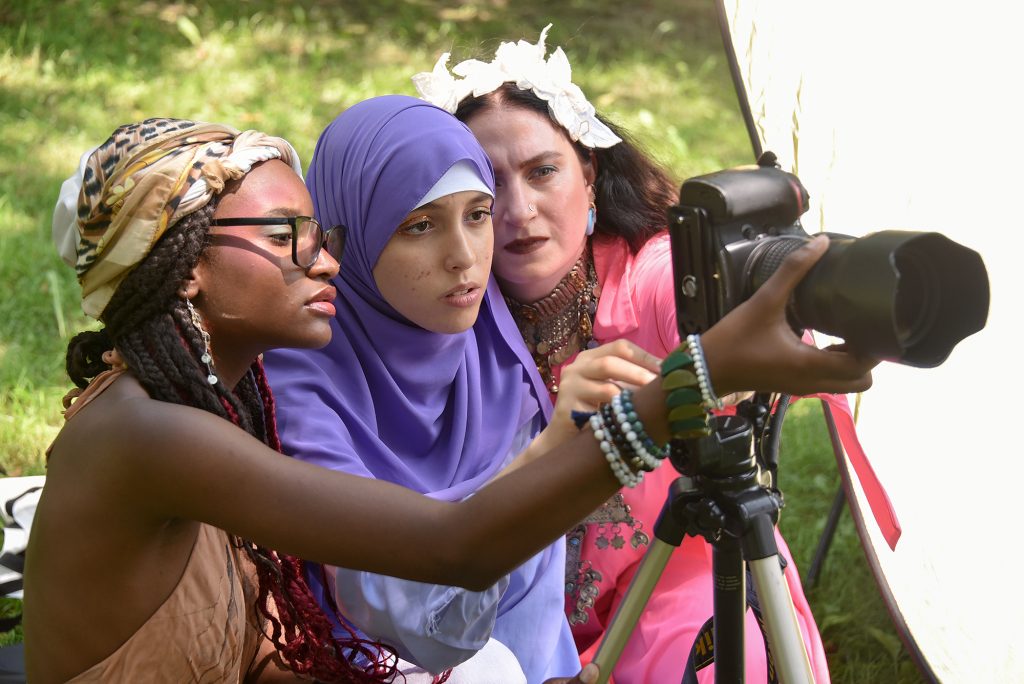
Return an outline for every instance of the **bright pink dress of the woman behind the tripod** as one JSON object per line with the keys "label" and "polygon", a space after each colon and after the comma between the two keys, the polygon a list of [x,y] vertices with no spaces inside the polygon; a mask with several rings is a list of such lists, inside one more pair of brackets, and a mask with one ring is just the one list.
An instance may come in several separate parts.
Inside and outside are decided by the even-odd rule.
{"label": "bright pink dress of the woman behind the tripod", "polygon": [[[651,353],[668,355],[679,343],[668,233],[650,240],[636,255],[621,239],[595,240],[594,265],[601,289],[595,339],[625,338]],[[556,379],[560,371],[560,367],[553,369]],[[636,488],[615,495],[567,537],[565,610],[584,664],[593,658],[637,571],[676,477],[669,464],[663,465]],[[777,529],[775,540],[787,562],[785,579],[815,680],[828,682],[821,638],[797,566]],[[613,673],[615,684],[681,681],[693,640],[712,615],[712,603],[711,545],[687,537],[673,552],[623,651]],[[765,682],[764,640],[751,611],[745,644],[746,681]],[[714,666],[699,671],[697,679],[713,682]]]}

